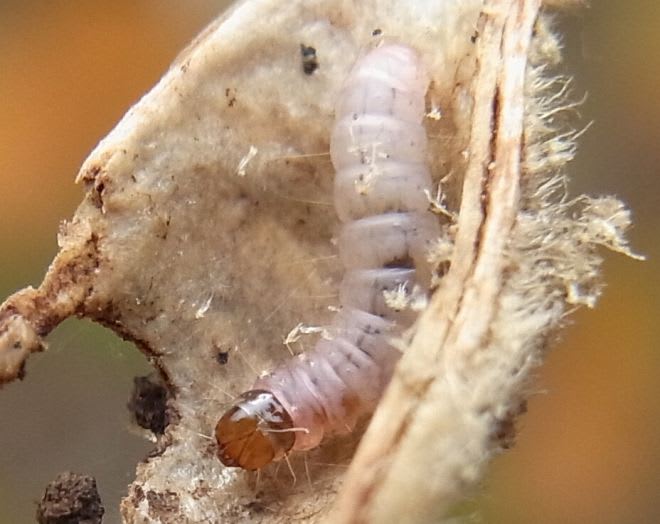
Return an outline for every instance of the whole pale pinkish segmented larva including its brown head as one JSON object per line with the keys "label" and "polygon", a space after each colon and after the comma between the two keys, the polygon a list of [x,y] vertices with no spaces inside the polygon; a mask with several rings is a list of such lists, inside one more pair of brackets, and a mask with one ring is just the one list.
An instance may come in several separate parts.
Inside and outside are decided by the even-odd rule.
{"label": "whole pale pinkish segmented larva including its brown head", "polygon": [[330,141],[341,310],[329,336],[259,378],[220,419],[225,465],[258,469],[351,431],[389,382],[400,357],[391,337],[411,318],[390,308],[384,292],[428,287],[426,252],[440,234],[425,194],[427,86],[417,54],[400,44],[371,51],[349,75]]}

